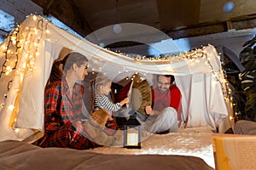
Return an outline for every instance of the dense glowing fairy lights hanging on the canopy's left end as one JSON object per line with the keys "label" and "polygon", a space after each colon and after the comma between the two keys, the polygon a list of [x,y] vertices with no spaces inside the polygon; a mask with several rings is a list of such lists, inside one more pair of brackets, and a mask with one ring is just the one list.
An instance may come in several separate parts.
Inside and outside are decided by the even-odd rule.
{"label": "dense glowing fairy lights hanging on the canopy's left end", "polygon": [[[30,16],[27,16],[30,17]],[[47,22],[44,22],[44,18],[37,15],[32,16],[34,26],[22,27],[17,25],[14,31],[9,33],[7,45],[3,48],[4,61],[1,67],[0,79],[3,76],[11,77],[11,80],[7,82],[7,93],[4,94],[4,100],[8,98],[10,88],[14,77],[18,79],[19,86],[15,87],[17,96],[20,96],[20,89],[22,88],[22,82],[24,77],[31,74],[35,67],[35,61],[39,56],[39,42],[46,34],[49,37],[49,31],[47,30]],[[21,55],[24,55],[21,57]],[[19,66],[20,65],[20,66]],[[17,105],[19,98],[15,99],[15,104],[9,105],[8,109],[12,111],[12,114],[17,116]],[[2,108],[4,103],[1,104]],[[11,127],[15,127],[16,119],[10,121]]]}

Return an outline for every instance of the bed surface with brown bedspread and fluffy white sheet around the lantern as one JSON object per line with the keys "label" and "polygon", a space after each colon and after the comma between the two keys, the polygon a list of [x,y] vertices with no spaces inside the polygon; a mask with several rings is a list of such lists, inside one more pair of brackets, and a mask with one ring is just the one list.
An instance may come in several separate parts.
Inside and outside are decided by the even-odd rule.
{"label": "bed surface with brown bedspread and fluffy white sheet around the lantern", "polygon": [[40,148],[16,140],[0,142],[0,169],[214,169],[212,133],[198,129],[153,134],[142,149],[104,146],[90,150]]}

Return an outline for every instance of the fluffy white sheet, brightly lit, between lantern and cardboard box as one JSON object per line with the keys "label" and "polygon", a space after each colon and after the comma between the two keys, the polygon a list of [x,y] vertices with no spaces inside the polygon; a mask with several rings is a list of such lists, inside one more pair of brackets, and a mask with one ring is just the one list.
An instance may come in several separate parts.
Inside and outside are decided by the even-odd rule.
{"label": "fluffy white sheet, brightly lit, between lantern and cardboard box", "polygon": [[179,133],[153,134],[142,141],[142,149],[129,150],[116,147],[100,147],[91,151],[119,155],[178,155],[200,157],[210,167],[215,167],[212,150],[212,133],[209,127],[180,129]]}

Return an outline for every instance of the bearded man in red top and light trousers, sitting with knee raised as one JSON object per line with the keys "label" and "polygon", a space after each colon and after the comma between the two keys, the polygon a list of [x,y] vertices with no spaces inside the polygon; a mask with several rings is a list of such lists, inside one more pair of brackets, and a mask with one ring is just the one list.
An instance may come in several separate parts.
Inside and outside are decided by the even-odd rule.
{"label": "bearded man in red top and light trousers, sitting with knee raised", "polygon": [[172,75],[157,75],[157,87],[152,90],[153,105],[147,105],[147,125],[150,133],[177,132],[177,111],[181,93]]}

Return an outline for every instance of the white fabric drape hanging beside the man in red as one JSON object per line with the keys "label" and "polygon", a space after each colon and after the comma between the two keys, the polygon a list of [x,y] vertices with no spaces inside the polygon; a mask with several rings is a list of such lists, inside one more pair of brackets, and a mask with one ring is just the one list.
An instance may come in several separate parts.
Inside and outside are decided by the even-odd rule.
{"label": "white fabric drape hanging beside the man in red", "polygon": [[210,73],[176,79],[182,93],[182,117],[187,127],[216,129],[228,113],[219,82]]}

